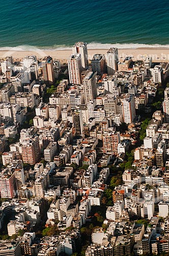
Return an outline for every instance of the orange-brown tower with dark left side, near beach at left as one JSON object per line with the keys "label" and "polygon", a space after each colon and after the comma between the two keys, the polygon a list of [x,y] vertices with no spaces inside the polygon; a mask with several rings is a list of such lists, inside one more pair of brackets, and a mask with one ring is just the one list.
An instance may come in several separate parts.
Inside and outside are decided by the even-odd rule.
{"label": "orange-brown tower with dark left side, near beach at left", "polygon": [[53,59],[50,56],[42,60],[43,80],[46,84],[52,84],[55,81]]}

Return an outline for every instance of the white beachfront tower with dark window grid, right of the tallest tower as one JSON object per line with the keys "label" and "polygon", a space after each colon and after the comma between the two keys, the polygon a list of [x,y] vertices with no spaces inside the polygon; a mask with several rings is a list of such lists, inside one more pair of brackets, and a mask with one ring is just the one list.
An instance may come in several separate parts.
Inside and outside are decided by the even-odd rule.
{"label": "white beachfront tower with dark window grid, right of the tallest tower", "polygon": [[108,75],[114,75],[118,70],[119,55],[117,48],[110,48],[107,51],[107,73]]}

